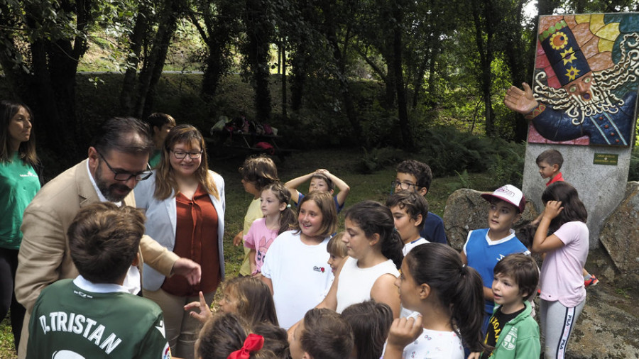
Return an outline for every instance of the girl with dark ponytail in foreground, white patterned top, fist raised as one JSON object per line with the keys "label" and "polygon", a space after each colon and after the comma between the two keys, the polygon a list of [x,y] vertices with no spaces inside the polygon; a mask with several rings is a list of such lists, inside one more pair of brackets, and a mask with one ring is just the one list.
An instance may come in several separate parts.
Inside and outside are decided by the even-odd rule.
{"label": "girl with dark ponytail in foreground, white patterned top, fist raised", "polygon": [[402,306],[419,314],[393,321],[384,359],[463,359],[463,346],[486,349],[481,277],[456,250],[440,243],[417,245],[404,258],[401,272],[395,285]]}

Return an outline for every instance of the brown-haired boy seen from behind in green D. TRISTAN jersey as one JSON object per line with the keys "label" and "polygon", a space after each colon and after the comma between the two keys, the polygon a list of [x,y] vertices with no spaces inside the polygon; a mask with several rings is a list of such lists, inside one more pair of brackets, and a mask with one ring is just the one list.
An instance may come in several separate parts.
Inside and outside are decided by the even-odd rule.
{"label": "brown-haired boy seen from behind in green D. TRISTAN jersey", "polygon": [[171,358],[160,307],[122,287],[140,262],[144,221],[137,209],[109,202],[78,212],[68,236],[80,275],[40,293],[27,358]]}

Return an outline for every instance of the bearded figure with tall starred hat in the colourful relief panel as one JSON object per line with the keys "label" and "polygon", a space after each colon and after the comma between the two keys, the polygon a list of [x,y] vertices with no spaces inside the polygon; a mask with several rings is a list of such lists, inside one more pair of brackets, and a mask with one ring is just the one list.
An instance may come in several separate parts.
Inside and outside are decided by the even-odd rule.
{"label": "bearded figure with tall starred hat in the colourful relief panel", "polygon": [[[539,40],[561,88],[547,86],[542,80],[548,75],[539,72],[535,95],[526,83],[523,89],[508,89],[504,98],[508,109],[532,120],[537,132],[549,140],[588,136],[591,145],[632,143],[639,35],[624,35],[620,62],[599,72],[591,71],[565,21],[541,33]],[[616,89],[626,91],[623,99],[613,93]]]}

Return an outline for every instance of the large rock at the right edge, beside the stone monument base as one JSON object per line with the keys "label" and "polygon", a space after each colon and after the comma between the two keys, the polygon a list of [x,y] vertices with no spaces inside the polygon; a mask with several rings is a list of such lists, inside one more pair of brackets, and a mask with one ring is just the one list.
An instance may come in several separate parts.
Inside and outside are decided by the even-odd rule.
{"label": "large rock at the right edge, beside the stone monument base", "polygon": [[637,285],[639,282],[639,182],[628,182],[626,195],[604,221],[599,241],[606,249],[616,270],[618,281]]}

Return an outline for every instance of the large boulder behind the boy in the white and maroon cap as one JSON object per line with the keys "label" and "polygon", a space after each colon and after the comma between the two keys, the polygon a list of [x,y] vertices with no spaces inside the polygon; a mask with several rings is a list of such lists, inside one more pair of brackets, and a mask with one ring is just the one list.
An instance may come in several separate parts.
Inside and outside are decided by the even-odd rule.
{"label": "large boulder behind the boy in the white and maroon cap", "polygon": [[[482,193],[488,192],[479,192],[468,188],[457,189],[446,201],[444,229],[446,229],[450,245],[457,250],[464,247],[469,231],[488,227],[488,201],[481,198]],[[535,218],[537,218],[537,211],[526,199],[526,209],[513,228],[518,232],[517,237],[520,240],[525,241],[522,233],[518,230],[534,221]]]}

